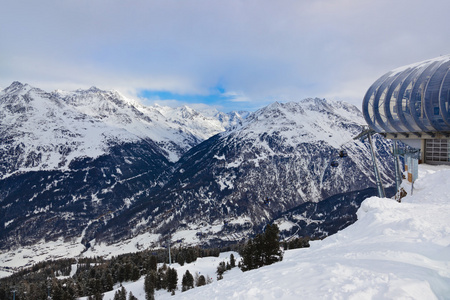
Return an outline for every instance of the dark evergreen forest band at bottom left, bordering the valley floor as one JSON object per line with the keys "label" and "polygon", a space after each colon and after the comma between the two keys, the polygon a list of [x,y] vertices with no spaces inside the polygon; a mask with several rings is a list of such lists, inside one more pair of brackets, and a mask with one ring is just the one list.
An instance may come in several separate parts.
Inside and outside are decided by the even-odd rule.
{"label": "dark evergreen forest band at bottom left, bordering the valley floor", "polygon": [[[184,265],[198,257],[219,256],[218,248],[200,247],[171,248],[173,262]],[[0,279],[0,300],[45,300],[51,295],[54,300],[100,295],[111,291],[117,283],[136,281],[155,270],[158,263],[168,263],[166,249],[145,250],[105,260],[102,257],[59,259],[37,263],[13,275]],[[76,272],[72,277],[72,268]]]}

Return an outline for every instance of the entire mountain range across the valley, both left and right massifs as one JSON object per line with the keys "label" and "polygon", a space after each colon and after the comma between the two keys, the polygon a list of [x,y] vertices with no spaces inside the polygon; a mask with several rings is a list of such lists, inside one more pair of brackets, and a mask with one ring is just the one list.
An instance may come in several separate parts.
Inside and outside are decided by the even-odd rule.
{"label": "entire mountain range across the valley, both left and right massifs", "polygon": [[[225,115],[145,107],[97,88],[47,93],[15,82],[0,106],[7,255],[49,243],[54,251],[34,257],[108,255],[169,236],[219,246],[303,203],[374,186],[368,144],[353,140],[362,114],[342,102],[306,99]],[[385,184],[394,182],[389,145],[375,138]]]}

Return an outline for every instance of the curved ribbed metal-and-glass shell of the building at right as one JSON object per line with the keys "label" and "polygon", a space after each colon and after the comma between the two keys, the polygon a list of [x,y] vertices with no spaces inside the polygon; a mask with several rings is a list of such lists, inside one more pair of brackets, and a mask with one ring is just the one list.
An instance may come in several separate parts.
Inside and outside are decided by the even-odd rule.
{"label": "curved ribbed metal-and-glass shell of the building at right", "polygon": [[380,133],[450,132],[450,55],[392,70],[363,100],[367,124]]}

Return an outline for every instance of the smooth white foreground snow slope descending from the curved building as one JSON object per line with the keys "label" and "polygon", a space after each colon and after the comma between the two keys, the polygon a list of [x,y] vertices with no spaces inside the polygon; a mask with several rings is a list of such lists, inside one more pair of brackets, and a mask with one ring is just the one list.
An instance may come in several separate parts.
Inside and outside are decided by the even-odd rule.
{"label": "smooth white foreground snow slope descending from the curved building", "polygon": [[[402,203],[365,200],[355,224],[286,251],[280,263],[233,269],[221,281],[156,299],[450,299],[450,167],[420,165],[414,187]],[[145,299],[143,278],[125,288]]]}

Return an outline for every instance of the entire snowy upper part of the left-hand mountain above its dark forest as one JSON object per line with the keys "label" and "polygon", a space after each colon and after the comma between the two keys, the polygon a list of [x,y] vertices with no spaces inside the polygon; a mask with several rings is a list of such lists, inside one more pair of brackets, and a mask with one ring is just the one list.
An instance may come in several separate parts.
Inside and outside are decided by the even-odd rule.
{"label": "entire snowy upper part of the left-hand mountain above its dark forest", "polygon": [[[143,106],[116,91],[92,87],[44,92],[14,82],[0,93],[0,178],[16,171],[68,167],[111,145],[151,140],[169,161],[242,121],[236,112],[207,117],[189,108]],[[5,161],[8,159],[8,161]]]}

